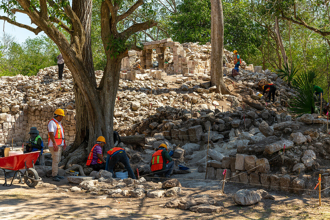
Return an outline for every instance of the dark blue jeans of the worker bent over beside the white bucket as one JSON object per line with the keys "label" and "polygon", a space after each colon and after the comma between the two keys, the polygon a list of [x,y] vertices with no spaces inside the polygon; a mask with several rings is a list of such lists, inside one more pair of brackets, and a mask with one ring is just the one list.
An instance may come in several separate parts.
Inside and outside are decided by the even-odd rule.
{"label": "dark blue jeans of the worker bent over beside the white bucket", "polygon": [[122,150],[113,155],[112,157],[110,157],[110,155],[108,154],[105,164],[105,170],[111,172],[112,176],[115,178],[114,167],[117,162],[120,162],[125,166],[125,169],[127,170],[128,174],[131,176],[132,179],[136,179],[131,165],[129,164],[129,159],[126,155],[126,152]]}

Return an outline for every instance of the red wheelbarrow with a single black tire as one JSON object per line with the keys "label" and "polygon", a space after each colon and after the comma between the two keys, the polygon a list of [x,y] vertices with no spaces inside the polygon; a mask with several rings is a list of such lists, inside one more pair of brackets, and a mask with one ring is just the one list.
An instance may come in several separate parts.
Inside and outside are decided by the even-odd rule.
{"label": "red wheelbarrow with a single black tire", "polygon": [[[30,187],[35,187],[38,184],[38,182],[41,180],[41,178],[38,176],[37,171],[34,169],[34,162],[37,161],[39,153],[40,151],[35,151],[26,154],[1,157],[0,168],[3,169],[5,174],[5,183],[2,186],[11,186],[18,173],[20,180],[19,183],[23,183],[22,182],[22,176],[23,176],[26,185]],[[24,173],[21,171],[22,169],[25,169]],[[12,176],[11,174],[13,172],[14,172],[14,176],[12,182],[10,183],[10,185],[8,185],[7,176],[8,175]]]}

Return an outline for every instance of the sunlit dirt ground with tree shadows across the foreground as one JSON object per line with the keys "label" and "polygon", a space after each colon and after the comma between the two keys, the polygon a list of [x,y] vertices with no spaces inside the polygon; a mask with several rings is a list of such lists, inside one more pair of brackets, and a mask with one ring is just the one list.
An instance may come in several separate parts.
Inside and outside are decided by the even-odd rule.
{"label": "sunlit dirt ground with tree shadows across the foreground", "polygon": [[[205,174],[204,174],[205,175]],[[174,175],[174,178],[203,178],[203,173],[192,172]],[[224,210],[217,213],[195,213],[189,210],[164,208],[173,199],[124,198],[95,196],[88,193],[73,193],[37,186],[29,188],[15,180],[11,187],[4,187],[0,177],[0,219],[330,219],[330,200],[322,196],[322,206],[318,207],[318,195],[302,195],[270,191],[275,200],[261,200],[251,206],[238,206],[233,202],[233,194],[249,188],[244,184],[226,183],[225,194],[218,190],[219,182],[205,180],[180,180],[182,196],[208,194],[223,202]],[[67,180],[44,182],[69,189],[76,184]],[[158,183],[149,183],[149,189],[161,189]]]}

